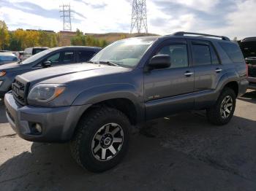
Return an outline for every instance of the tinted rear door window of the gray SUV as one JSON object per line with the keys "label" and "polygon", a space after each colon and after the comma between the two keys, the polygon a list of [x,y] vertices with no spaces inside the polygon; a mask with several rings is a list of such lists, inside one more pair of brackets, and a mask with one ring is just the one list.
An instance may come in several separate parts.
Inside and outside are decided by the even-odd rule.
{"label": "tinted rear door window of the gray SUV", "polygon": [[211,52],[207,44],[192,44],[192,54],[194,66],[211,64]]}

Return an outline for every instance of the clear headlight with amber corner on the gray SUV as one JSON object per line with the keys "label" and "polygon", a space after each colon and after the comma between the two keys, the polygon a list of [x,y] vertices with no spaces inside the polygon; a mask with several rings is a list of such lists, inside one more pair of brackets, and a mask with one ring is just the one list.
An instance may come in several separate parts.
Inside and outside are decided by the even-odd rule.
{"label": "clear headlight with amber corner on the gray SUV", "polygon": [[64,85],[39,84],[29,92],[29,100],[39,102],[49,102],[58,97],[65,90]]}

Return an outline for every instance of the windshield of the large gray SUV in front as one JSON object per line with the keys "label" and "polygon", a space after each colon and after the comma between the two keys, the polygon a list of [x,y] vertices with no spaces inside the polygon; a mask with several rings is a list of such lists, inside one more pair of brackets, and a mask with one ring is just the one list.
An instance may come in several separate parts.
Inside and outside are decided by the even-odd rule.
{"label": "windshield of the large gray SUV in front", "polygon": [[139,63],[140,58],[142,58],[143,54],[154,40],[124,39],[114,42],[97,53],[94,58],[91,58],[91,62],[111,62],[119,66],[132,68]]}

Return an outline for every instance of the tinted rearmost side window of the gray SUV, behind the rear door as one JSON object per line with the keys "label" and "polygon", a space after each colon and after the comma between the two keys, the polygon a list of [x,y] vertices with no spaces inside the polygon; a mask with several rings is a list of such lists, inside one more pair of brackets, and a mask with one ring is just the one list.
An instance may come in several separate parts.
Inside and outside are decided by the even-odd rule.
{"label": "tinted rearmost side window of the gray SUV, behind the rear door", "polygon": [[244,56],[237,44],[227,42],[220,42],[219,44],[222,46],[223,50],[225,50],[231,61],[235,63],[244,62]]}

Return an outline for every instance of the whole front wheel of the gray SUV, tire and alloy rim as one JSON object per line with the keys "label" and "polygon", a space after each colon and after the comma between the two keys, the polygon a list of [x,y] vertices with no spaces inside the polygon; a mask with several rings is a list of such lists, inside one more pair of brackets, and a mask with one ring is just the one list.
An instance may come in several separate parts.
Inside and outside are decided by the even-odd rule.
{"label": "whole front wheel of the gray SUV, tire and alloy rim", "polygon": [[93,172],[107,171],[117,165],[127,152],[129,120],[117,109],[101,107],[83,117],[71,151],[75,160]]}

